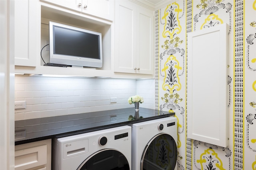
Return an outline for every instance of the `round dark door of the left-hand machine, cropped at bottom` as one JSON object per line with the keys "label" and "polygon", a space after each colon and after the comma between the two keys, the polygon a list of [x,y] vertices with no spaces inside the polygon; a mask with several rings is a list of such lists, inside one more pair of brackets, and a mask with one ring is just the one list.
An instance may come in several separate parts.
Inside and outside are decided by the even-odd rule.
{"label": "round dark door of the left-hand machine, cropped at bottom", "polygon": [[118,150],[104,149],[89,156],[77,170],[130,170],[130,166]]}

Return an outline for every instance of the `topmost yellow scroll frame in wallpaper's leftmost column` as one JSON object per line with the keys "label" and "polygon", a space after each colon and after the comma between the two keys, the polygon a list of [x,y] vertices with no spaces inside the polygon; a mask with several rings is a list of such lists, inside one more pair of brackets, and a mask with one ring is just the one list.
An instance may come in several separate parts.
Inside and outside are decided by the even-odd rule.
{"label": "topmost yellow scroll frame in wallpaper's leftmost column", "polygon": [[[177,25],[176,28],[174,28],[174,29],[172,30],[172,32],[164,30],[162,36],[163,36],[164,38],[166,38],[167,35],[170,35],[170,39],[173,39],[174,34],[175,34],[175,33],[179,34],[180,31],[181,31],[181,25],[180,25],[180,20],[179,20],[179,13],[182,12],[182,9],[180,9],[179,4],[177,4],[176,2],[170,4],[170,5],[168,5],[168,6],[166,7],[166,9],[164,10],[164,16],[162,17],[162,20],[164,20],[164,28],[166,28],[166,23],[168,22],[167,20],[169,20],[169,18],[168,18],[169,12],[167,12],[167,11],[168,11],[169,6],[171,6],[171,5],[176,5],[176,7],[177,7],[174,11],[177,12],[176,19],[177,19],[178,25]],[[167,35],[166,35],[166,34],[167,34]]]}

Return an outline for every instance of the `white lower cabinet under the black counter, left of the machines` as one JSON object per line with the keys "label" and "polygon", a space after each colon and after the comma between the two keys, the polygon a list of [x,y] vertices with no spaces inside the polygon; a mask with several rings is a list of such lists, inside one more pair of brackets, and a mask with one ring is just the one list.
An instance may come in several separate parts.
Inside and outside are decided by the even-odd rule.
{"label": "white lower cabinet under the black counter, left of the machines", "polygon": [[15,146],[15,170],[50,170],[52,140]]}

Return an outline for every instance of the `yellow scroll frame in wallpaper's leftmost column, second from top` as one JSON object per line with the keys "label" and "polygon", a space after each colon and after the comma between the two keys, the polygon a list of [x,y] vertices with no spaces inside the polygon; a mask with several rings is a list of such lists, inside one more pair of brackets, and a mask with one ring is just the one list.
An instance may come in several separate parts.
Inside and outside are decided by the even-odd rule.
{"label": "yellow scroll frame in wallpaper's leftmost column, second from top", "polygon": [[172,86],[170,86],[169,84],[165,84],[165,82],[163,83],[163,85],[162,85],[162,89],[164,90],[164,91],[166,91],[167,89],[166,89],[166,87],[170,90],[170,93],[172,94],[173,93],[173,91],[174,91],[174,89],[175,90],[177,90],[177,91],[179,91],[180,89],[181,89],[181,83],[180,83],[180,77],[179,77],[179,70],[181,70],[182,69],[182,67],[180,66],[180,63],[179,63],[179,61],[176,59],[176,57],[174,57],[174,55],[170,55],[168,58],[167,58],[167,60],[166,60],[166,62],[164,63],[164,68],[162,69],[162,71],[164,71],[164,80],[166,79],[166,77],[167,77],[167,70],[168,70],[168,68],[169,68],[169,66],[167,65],[167,63],[169,63],[169,61],[176,61],[176,64],[174,65],[174,68],[176,68],[177,69],[177,72],[176,72],[176,76],[177,76],[177,79],[178,79],[178,81],[177,81],[177,83],[176,84],[173,84]]}

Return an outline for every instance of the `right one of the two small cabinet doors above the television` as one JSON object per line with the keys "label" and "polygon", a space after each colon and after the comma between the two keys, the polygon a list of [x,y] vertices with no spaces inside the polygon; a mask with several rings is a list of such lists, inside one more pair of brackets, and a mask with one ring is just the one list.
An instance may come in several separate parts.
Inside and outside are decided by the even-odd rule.
{"label": "right one of the two small cabinet doors above the television", "polygon": [[82,12],[113,21],[114,0],[83,0]]}

